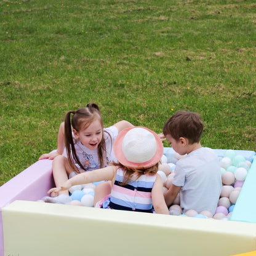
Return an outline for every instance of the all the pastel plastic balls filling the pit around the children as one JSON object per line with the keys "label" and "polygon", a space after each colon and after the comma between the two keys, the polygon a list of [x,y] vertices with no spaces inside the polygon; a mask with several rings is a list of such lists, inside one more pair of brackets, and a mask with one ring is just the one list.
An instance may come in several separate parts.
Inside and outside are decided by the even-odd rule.
{"label": "all the pastel plastic balls filling the pit around the children", "polygon": [[[162,163],[159,165],[158,174],[161,176],[164,184],[163,193],[165,193],[172,185],[175,164],[179,159],[185,157],[186,155],[181,156],[180,154],[175,153],[172,148],[162,156]],[[251,162],[247,161],[243,156],[237,155],[234,150],[226,150],[223,158],[220,158],[220,166],[222,171],[222,191],[214,215],[207,210],[196,212],[193,209],[188,210],[183,214],[182,208],[180,207],[180,193],[178,193],[172,206],[169,207],[170,215],[229,220],[234,209],[234,204],[236,204],[236,200],[238,199],[242,185],[246,179],[247,172],[250,169]],[[70,196],[65,194],[60,194],[56,198],[47,196],[43,198],[42,201],[93,207],[94,191],[98,183],[99,182],[72,186],[69,190]]]}

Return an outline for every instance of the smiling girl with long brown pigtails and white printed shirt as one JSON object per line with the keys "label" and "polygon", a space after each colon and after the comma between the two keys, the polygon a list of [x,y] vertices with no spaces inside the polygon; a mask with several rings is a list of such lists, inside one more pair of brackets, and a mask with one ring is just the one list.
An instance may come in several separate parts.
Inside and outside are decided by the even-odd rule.
{"label": "smiling girl with long brown pigtails and white printed shirt", "polygon": [[[103,128],[98,105],[89,103],[84,108],[66,113],[65,122],[60,125],[58,132],[57,151],[43,154],[39,159],[54,159],[54,182],[56,186],[60,186],[76,174],[101,169],[116,161],[113,153],[114,140],[121,130],[129,127],[134,126],[122,120]],[[103,186],[103,190],[111,190],[110,185]],[[68,191],[52,193],[50,196],[55,197],[62,193],[68,194]],[[104,191],[103,194],[105,193]]]}

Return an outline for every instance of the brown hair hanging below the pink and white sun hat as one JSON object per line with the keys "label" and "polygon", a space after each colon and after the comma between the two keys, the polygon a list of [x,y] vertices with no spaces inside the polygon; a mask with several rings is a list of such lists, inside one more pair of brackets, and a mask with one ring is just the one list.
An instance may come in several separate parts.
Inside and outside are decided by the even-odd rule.
{"label": "brown hair hanging below the pink and white sun hat", "polygon": [[116,163],[116,162],[113,162],[112,165],[117,166],[124,171],[124,178],[120,185],[125,186],[130,182],[130,180],[132,180],[132,177],[135,177],[135,179],[133,180],[138,180],[138,178],[140,178],[140,176],[142,176],[143,174],[155,175],[158,172],[159,162],[154,164],[154,166],[148,167],[146,169],[129,168],[127,166],[123,166],[122,164]]}

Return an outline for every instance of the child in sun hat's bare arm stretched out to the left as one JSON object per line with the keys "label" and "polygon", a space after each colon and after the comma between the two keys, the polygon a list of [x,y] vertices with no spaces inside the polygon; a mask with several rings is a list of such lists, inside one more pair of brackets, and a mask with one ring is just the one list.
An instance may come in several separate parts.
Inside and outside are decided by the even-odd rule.
{"label": "child in sun hat's bare arm stretched out to the left", "polygon": [[62,186],[59,186],[58,188],[51,188],[47,193],[58,193],[60,191],[69,190],[71,186],[74,185],[100,182],[102,180],[113,180],[115,173],[115,166],[108,166],[102,169],[92,170],[90,172],[83,172],[82,174],[78,174],[73,178],[70,178],[70,180],[67,180]]}

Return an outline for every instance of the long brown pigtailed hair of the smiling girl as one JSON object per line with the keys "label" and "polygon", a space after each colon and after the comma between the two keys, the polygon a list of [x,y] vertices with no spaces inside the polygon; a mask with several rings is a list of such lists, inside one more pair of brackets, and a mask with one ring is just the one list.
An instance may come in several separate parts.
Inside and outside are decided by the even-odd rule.
{"label": "long brown pigtailed hair of the smiling girl", "polygon": [[[71,114],[73,114],[72,118]],[[97,119],[100,121],[100,124],[102,126],[102,141],[98,145],[98,159],[100,160],[100,168],[103,168],[106,162],[106,142],[103,132],[102,116],[100,114],[100,109],[98,108],[98,105],[95,103],[89,103],[84,108],[79,108],[79,110],[76,111],[68,111],[68,113],[66,113],[65,146],[68,154],[68,162],[76,172],[79,172],[79,170],[75,166],[74,162],[77,162],[79,167],[81,167],[83,170],[86,170],[86,168],[81,164],[76,154],[72,136],[72,127],[77,132],[79,132],[79,130],[89,127],[90,124]]]}

